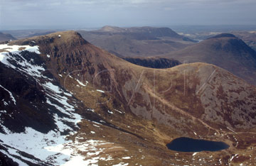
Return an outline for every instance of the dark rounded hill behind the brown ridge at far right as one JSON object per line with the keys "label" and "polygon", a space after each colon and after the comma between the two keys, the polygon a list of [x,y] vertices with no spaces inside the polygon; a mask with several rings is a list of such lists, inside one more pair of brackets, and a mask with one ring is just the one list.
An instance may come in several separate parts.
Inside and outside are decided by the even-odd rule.
{"label": "dark rounded hill behind the brown ridge at far right", "polygon": [[256,52],[232,34],[220,34],[183,50],[171,52],[181,62],[207,62],[256,84]]}

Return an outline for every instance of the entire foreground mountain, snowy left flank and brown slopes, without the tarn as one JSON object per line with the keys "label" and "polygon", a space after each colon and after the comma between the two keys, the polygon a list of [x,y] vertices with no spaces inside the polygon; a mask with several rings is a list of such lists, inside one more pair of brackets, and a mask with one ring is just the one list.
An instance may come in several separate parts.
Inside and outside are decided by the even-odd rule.
{"label": "entire foreground mountain, snowy left flank and brown slopes, without the tarn", "polygon": [[[0,138],[0,152],[12,160],[28,165],[55,165],[78,158],[91,164],[182,165],[192,162],[193,156],[181,153],[181,162],[165,145],[178,136],[190,136],[227,142],[230,149],[214,153],[213,158],[201,153],[206,161],[218,164],[219,160],[233,163],[233,153],[255,146],[256,89],[215,65],[141,67],[87,43],[73,31],[16,40],[1,47],[4,139]],[[24,131],[29,133],[31,128],[33,135],[43,133],[48,138],[55,134],[48,139],[54,142],[61,137],[70,144],[61,140],[48,145],[46,141],[39,148],[47,155],[41,156],[26,151],[26,146],[11,144],[14,140],[10,142],[6,136],[9,131],[20,133],[17,137],[22,142]],[[248,135],[242,137],[245,131]],[[92,155],[88,147],[94,147]],[[36,161],[24,158],[26,155],[16,157],[11,149],[34,155],[29,158]],[[72,152],[69,157],[58,155],[67,149]],[[50,153],[53,151],[56,153]]]}

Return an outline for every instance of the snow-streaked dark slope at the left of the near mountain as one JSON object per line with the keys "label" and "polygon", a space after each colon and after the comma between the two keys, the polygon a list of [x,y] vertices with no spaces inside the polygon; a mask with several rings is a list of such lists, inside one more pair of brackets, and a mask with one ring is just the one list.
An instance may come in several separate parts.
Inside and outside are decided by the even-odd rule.
{"label": "snow-streaked dark slope at the left of the near mountain", "polygon": [[[88,163],[97,163],[100,157],[84,160],[80,153],[90,151],[95,146],[106,144],[106,142],[87,140],[85,143],[80,143],[79,136],[74,141],[68,140],[68,136],[77,133],[78,123],[82,121],[82,116],[76,112],[80,104],[72,94],[55,84],[53,77],[44,74],[46,73],[44,63],[38,60],[39,47],[5,44],[0,45],[0,50],[4,50],[0,52],[3,67],[12,68],[22,77],[33,79],[36,82],[36,88],[43,92],[42,103],[47,108],[45,110],[47,112],[43,114],[48,114],[49,118],[53,118],[53,127],[47,132],[41,132],[38,128],[28,125],[23,128],[23,132],[17,133],[9,126],[5,126],[7,121],[11,121],[5,116],[18,118],[18,116],[12,117],[11,110],[16,111],[17,109],[18,111],[20,105],[18,100],[21,96],[13,94],[8,87],[0,84],[0,89],[9,94],[1,99],[4,105],[1,106],[0,111],[2,131],[0,133],[0,153],[9,156],[18,165],[31,165],[31,163],[36,165],[88,165]],[[33,111],[36,111],[36,104],[34,107]],[[16,114],[25,113],[21,110]],[[16,125],[21,125],[21,123]],[[95,149],[97,150],[97,148]]]}

